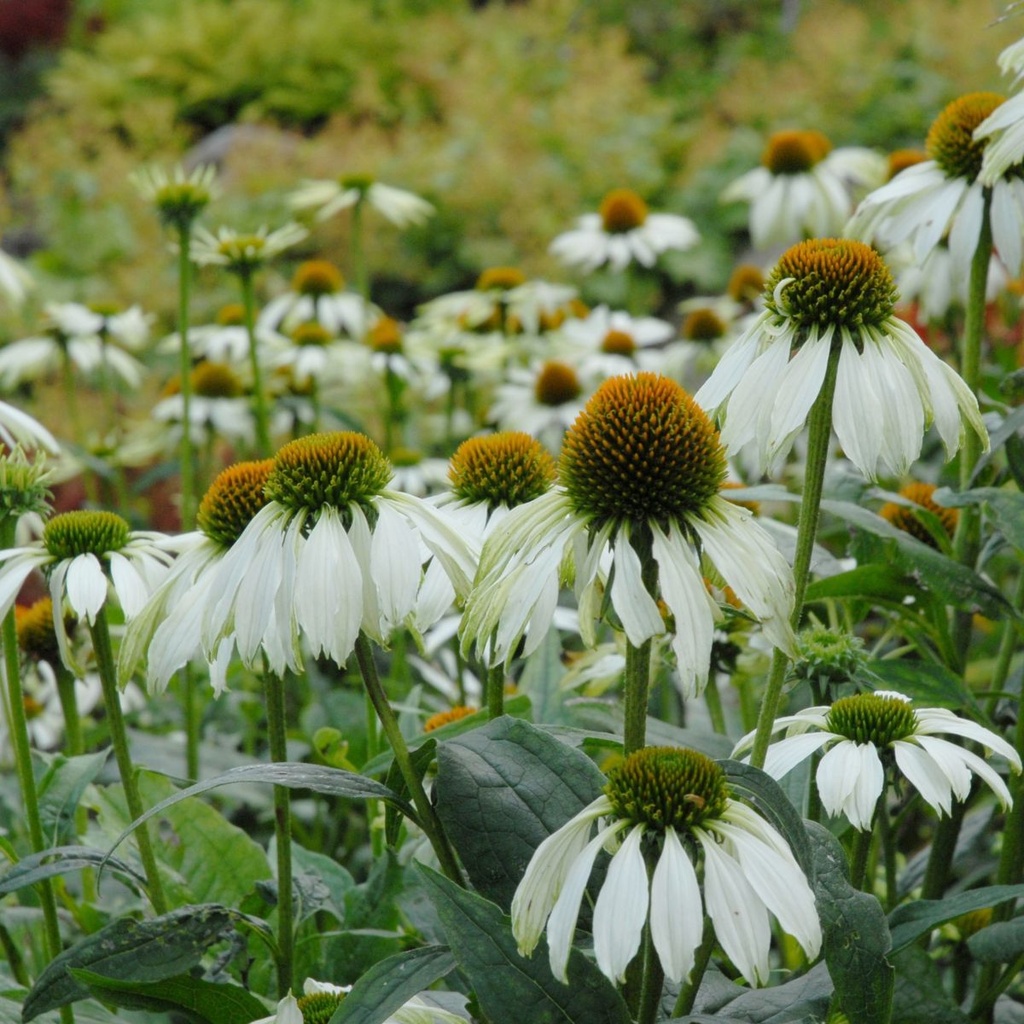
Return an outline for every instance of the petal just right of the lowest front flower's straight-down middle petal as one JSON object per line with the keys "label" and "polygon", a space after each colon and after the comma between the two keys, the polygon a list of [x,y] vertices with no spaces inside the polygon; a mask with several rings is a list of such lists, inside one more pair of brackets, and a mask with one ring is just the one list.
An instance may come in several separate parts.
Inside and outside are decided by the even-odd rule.
{"label": "petal just right of the lowest front flower's straight-down middle petal", "polygon": [[715,935],[750,985],[768,980],[768,911],[737,861],[702,828],[693,835],[705,856],[705,900]]}

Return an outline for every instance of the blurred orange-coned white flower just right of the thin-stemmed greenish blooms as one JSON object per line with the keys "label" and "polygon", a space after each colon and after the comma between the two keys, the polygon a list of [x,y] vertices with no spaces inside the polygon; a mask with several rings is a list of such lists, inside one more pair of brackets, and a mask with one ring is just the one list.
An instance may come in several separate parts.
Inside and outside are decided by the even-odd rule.
{"label": "blurred orange-coned white flower just right of the thin-stemmed greenish blooms", "polygon": [[332,335],[360,340],[381,311],[360,295],[345,291],[345,279],[329,260],[306,260],[296,268],[292,289],[271,299],[257,326],[287,334],[300,324],[315,322]]}

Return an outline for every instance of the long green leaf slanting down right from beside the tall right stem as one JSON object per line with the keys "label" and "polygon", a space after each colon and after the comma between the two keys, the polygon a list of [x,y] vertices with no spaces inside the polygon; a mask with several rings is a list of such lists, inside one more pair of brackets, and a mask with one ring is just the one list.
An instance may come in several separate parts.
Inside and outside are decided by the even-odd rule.
{"label": "long green leaf slanting down right from beside the tall right stem", "polygon": [[893,526],[874,512],[851,502],[830,500],[823,501],[821,509],[890,542],[888,554],[892,564],[919,578],[947,604],[966,611],[980,611],[989,618],[1015,614],[1002,594],[977,572]]}

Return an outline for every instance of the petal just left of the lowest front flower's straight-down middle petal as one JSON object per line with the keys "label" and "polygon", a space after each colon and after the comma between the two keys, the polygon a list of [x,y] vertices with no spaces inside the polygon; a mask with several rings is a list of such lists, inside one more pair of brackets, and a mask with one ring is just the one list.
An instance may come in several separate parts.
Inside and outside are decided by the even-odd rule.
{"label": "petal just left of the lowest front flower's straight-down middle petal", "polygon": [[634,825],[623,840],[594,907],[594,954],[602,974],[611,981],[626,980],[626,969],[640,948],[647,921],[649,883],[640,849],[643,833],[643,825]]}

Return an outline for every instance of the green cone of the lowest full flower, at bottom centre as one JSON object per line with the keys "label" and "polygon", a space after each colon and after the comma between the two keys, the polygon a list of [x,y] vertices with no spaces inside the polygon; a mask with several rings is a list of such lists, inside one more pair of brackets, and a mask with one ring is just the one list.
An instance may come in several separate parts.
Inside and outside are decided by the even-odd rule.
{"label": "green cone of the lowest full flower, at bottom centre", "polygon": [[729,799],[725,773],[711,758],[677,746],[645,746],[608,773],[614,815],[656,831],[685,831],[718,817]]}

